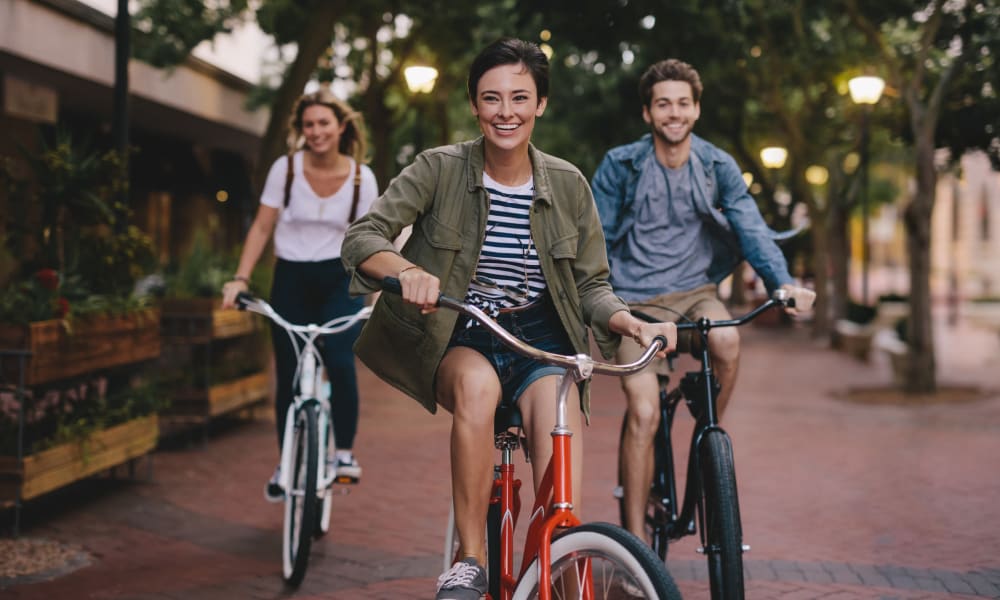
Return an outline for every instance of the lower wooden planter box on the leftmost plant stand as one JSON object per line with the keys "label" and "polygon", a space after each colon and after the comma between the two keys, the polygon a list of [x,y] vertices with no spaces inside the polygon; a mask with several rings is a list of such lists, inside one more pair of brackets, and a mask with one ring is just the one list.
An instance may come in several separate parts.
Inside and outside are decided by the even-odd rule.
{"label": "lower wooden planter box on the leftmost plant stand", "polygon": [[86,440],[24,457],[0,456],[0,503],[30,500],[84,477],[148,454],[159,439],[156,415],[96,431]]}

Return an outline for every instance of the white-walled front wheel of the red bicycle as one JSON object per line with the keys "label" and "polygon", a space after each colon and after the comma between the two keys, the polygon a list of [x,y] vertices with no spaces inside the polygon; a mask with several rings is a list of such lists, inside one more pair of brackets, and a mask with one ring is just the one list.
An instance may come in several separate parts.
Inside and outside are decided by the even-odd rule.
{"label": "white-walled front wheel of the red bicycle", "polygon": [[[538,597],[538,558],[535,557],[514,590],[515,600]],[[574,527],[552,542],[552,577],[545,582],[552,598],[577,598],[580,586],[592,590],[595,600],[681,597],[677,586],[649,546],[611,523]]]}

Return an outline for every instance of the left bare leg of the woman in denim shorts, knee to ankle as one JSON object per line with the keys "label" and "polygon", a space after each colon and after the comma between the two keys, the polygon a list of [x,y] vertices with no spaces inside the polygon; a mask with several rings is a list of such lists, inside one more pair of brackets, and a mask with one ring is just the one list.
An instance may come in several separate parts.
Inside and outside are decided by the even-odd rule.
{"label": "left bare leg of the woman in denim shorts, knee to ankle", "polygon": [[452,348],[437,375],[437,401],[451,412],[451,486],[460,557],[486,560],[484,523],[493,485],[493,416],[500,381],[483,355]]}

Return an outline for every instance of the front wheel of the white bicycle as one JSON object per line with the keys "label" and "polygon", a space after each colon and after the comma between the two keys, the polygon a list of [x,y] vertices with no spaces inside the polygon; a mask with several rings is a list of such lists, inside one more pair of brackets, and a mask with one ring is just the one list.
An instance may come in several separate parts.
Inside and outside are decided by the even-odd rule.
{"label": "front wheel of the white bicycle", "polygon": [[290,489],[285,491],[283,575],[292,586],[302,583],[316,528],[316,473],[319,448],[316,405],[307,402],[296,411]]}

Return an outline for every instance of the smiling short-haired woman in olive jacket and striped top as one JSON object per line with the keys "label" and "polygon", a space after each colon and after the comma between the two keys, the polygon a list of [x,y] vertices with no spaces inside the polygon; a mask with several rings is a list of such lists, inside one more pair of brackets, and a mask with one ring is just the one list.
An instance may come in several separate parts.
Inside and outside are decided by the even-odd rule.
{"label": "smiling short-haired woman in olive jacket and striped top", "polygon": [[[468,93],[482,137],[418,155],[348,230],[342,249],[353,293],[376,291],[385,277],[398,278],[402,287],[402,296],[379,298],[355,346],[358,357],[429,411],[440,405],[454,415],[451,470],[461,560],[439,580],[439,600],[486,592],[481,565],[494,410],[502,398],[518,405],[532,464],[546,465],[556,381],[564,371],[520,357],[474,320],[437,311],[439,294],[462,298],[506,321],[513,335],[559,354],[587,353],[588,327],[605,356],[621,335],[644,347],[657,335],[668,340],[666,349],[676,340],[674,325],[636,319],[608,284],[586,178],[530,144],[548,101],[545,54],[521,40],[494,42],[473,61]],[[392,241],[411,224],[413,233],[397,252]],[[578,429],[589,408],[588,386],[568,393],[566,423]],[[579,474],[579,436],[572,445],[572,472]],[[534,469],[535,489],[541,471]],[[578,479],[572,486],[579,498]]]}

